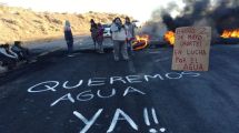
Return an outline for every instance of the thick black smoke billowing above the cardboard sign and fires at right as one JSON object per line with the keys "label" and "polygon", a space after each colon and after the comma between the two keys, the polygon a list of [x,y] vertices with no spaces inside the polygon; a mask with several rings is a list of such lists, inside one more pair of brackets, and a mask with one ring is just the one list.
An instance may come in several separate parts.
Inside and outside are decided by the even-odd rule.
{"label": "thick black smoke billowing above the cardboard sign and fires at right", "polygon": [[173,31],[179,27],[197,25],[202,20],[207,21],[205,25],[212,27],[219,34],[226,29],[239,28],[239,0],[183,0],[183,10],[176,18],[170,13],[170,10],[178,8],[175,4],[157,10],[153,14],[160,14],[168,30]]}

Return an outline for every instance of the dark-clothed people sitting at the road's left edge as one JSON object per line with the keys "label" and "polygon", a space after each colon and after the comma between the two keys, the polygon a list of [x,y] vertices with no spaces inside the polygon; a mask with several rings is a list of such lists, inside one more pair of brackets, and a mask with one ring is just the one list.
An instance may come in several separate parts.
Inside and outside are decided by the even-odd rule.
{"label": "dark-clothed people sitting at the road's left edge", "polygon": [[9,70],[16,68],[20,61],[29,62],[30,53],[27,48],[21,45],[21,41],[14,41],[13,45],[8,43],[0,44],[0,65]]}

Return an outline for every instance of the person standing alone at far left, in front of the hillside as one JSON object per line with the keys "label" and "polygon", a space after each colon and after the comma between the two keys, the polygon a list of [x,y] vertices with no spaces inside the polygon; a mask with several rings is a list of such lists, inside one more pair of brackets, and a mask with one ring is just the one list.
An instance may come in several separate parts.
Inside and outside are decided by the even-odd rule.
{"label": "person standing alone at far left, in front of the hillside", "polygon": [[66,39],[67,45],[68,45],[68,53],[72,53],[73,52],[73,35],[72,35],[70,22],[68,20],[66,20],[66,22],[64,22],[64,39]]}

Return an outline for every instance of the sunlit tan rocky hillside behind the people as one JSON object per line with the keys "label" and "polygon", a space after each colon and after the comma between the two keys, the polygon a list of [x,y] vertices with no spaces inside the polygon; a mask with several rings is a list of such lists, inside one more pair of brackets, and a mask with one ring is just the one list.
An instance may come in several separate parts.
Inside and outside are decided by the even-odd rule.
{"label": "sunlit tan rocky hillside behind the people", "polygon": [[[69,20],[73,34],[88,34],[89,21],[110,23],[114,13],[57,13],[34,12],[30,9],[0,6],[0,42],[36,41],[62,37],[64,20]],[[123,14],[119,17],[125,18]]]}

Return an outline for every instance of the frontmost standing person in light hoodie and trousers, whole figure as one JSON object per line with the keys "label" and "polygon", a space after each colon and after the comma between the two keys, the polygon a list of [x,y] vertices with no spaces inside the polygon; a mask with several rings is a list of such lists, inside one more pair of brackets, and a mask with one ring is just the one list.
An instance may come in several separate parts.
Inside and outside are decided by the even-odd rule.
{"label": "frontmost standing person in light hoodie and trousers, whole figure", "polygon": [[116,18],[113,23],[110,27],[112,31],[112,41],[113,41],[113,58],[114,61],[119,61],[119,54],[121,52],[123,60],[129,60],[127,52],[127,31],[120,18]]}

